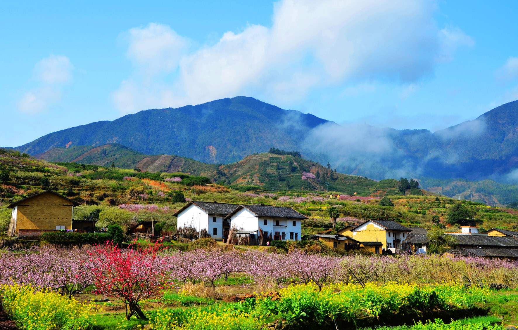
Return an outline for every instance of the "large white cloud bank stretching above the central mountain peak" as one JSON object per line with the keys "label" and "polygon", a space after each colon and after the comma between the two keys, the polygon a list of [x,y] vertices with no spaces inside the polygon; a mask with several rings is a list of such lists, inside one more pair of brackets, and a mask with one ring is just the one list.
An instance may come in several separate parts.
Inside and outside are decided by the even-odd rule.
{"label": "large white cloud bank stretching above the central mountain peak", "polygon": [[326,85],[412,85],[472,44],[459,29],[439,29],[436,11],[431,0],[283,0],[271,28],[249,25],[191,51],[169,26],[132,28],[135,71],[113,101],[131,113],[236,95],[295,101]]}

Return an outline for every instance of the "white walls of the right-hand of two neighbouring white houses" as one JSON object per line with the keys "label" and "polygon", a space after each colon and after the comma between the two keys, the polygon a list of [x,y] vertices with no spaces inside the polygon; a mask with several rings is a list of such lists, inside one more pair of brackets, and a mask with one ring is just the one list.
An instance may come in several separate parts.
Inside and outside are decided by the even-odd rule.
{"label": "white walls of the right-hand of two neighbouring white houses", "polygon": [[[267,221],[266,224],[264,224],[264,220]],[[275,226],[276,220],[279,220],[279,226]],[[295,221],[295,226],[293,226],[293,221]],[[301,238],[300,219],[257,217],[246,208],[240,209],[236,214],[231,216],[230,226],[231,228],[236,226],[238,229],[251,231],[262,229],[263,232],[268,232],[268,235],[271,234],[272,238],[276,231],[280,233],[284,232],[284,241],[290,239],[291,232],[294,234],[294,239],[295,233],[297,234],[298,241],[300,241]]]}

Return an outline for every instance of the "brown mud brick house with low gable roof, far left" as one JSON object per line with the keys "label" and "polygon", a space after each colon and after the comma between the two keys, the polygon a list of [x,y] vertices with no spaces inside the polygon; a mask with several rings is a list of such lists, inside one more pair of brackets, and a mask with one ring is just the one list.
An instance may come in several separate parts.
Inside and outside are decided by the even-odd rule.
{"label": "brown mud brick house with low gable roof, far left", "polygon": [[12,208],[8,234],[16,236],[20,229],[72,229],[74,206],[78,205],[52,190],[13,202],[7,206]]}

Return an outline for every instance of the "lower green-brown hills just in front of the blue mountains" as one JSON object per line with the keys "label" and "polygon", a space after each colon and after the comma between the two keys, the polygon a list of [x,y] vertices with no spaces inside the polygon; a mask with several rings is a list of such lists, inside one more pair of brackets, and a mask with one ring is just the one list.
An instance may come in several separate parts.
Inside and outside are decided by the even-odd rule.
{"label": "lower green-brown hills just in front of the blue mountains", "polygon": [[[384,196],[386,193],[398,192],[397,181],[394,179],[376,182],[362,176],[338,173],[319,163],[291,155],[262,153],[249,155],[239,162],[208,164],[185,157],[145,155],[121,144],[112,143],[98,147],[52,148],[37,157],[52,162],[77,162],[106,167],[113,163],[118,168],[203,175],[214,182],[223,182],[243,189],[254,186],[274,191],[329,189],[351,195],[356,193],[358,196]],[[414,193],[421,193],[421,190],[417,189]]]}

